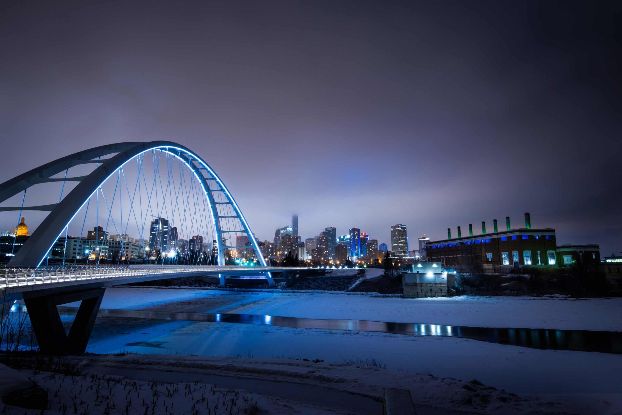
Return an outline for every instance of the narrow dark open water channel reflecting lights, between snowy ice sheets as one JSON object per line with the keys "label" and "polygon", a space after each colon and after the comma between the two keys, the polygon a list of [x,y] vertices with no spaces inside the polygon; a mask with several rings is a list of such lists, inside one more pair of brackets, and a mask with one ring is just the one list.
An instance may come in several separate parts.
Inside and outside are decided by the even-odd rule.
{"label": "narrow dark open water channel reflecting lights, between snowy ice sheets", "polygon": [[[58,307],[60,314],[75,315],[77,307]],[[233,324],[259,324],[293,329],[351,330],[357,332],[468,338],[522,347],[622,354],[622,332],[592,330],[516,329],[412,324],[348,319],[303,319],[263,314],[203,314],[169,311],[100,309],[99,315],[136,319],[183,320]]]}

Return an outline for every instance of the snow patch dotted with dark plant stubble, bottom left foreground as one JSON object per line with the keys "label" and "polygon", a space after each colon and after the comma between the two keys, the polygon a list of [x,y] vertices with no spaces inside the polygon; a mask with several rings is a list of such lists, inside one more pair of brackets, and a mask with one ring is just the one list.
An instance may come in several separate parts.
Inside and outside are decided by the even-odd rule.
{"label": "snow patch dotted with dark plant stubble, bottom left foreground", "polygon": [[[134,358],[133,360],[137,360]],[[164,365],[162,365],[164,366]],[[65,376],[57,373],[24,371],[47,389],[50,409],[24,409],[7,406],[9,415],[58,413],[108,414],[304,414],[328,415],[327,408],[262,396],[239,389],[195,381],[172,383],[166,380],[134,381],[123,376]],[[126,412],[127,411],[127,412]]]}

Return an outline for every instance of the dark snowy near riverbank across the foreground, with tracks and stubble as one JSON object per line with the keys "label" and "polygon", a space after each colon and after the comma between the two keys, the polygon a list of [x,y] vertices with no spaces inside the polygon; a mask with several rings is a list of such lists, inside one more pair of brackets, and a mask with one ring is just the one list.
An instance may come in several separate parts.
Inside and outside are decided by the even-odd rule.
{"label": "dark snowy near riverbank across the foreground, with tracks and stubble", "polygon": [[[619,393],[585,394],[570,399],[559,395],[517,396],[509,391],[486,386],[485,381],[480,382],[481,379],[471,382],[473,378],[442,378],[425,373],[390,371],[343,362],[149,354],[91,355],[73,359],[83,370],[95,375],[63,376],[45,372],[24,372],[42,388],[49,390],[52,396],[50,415],[62,413],[62,403],[70,406],[72,401],[79,402],[78,410],[82,412],[88,408],[90,411],[104,413],[108,408],[111,414],[122,414],[128,404],[131,414],[193,413],[193,406],[201,413],[238,413],[235,407],[233,411],[228,411],[230,408],[226,404],[231,403],[231,398],[234,399],[235,406],[242,408],[239,413],[244,413],[244,408],[250,408],[259,401],[259,413],[377,414],[381,409],[378,401],[383,388],[409,389],[418,413],[426,413],[426,408],[434,407],[443,409],[443,414],[458,413],[454,411],[463,409],[485,414],[516,411],[537,414],[614,414],[616,408],[619,408],[621,398]],[[121,375],[105,375],[115,372]],[[131,381],[132,375],[136,375],[139,380]],[[179,381],[180,376],[187,383]],[[254,385],[255,388],[269,393],[250,393],[242,388],[231,390],[212,383],[203,383],[201,380],[223,379],[223,376],[228,379],[233,377],[232,380],[239,385]],[[333,399],[339,396],[343,402],[338,408],[327,408],[325,398],[328,395]],[[482,396],[490,403],[485,403]],[[594,399],[595,396],[598,399]],[[79,397],[79,400],[72,397]],[[470,403],[466,403],[468,400]],[[369,408],[355,408],[361,401],[369,402]],[[148,407],[143,409],[146,406]],[[209,412],[206,411],[207,408],[210,408]],[[5,409],[9,415],[39,414],[32,410],[11,407]]]}

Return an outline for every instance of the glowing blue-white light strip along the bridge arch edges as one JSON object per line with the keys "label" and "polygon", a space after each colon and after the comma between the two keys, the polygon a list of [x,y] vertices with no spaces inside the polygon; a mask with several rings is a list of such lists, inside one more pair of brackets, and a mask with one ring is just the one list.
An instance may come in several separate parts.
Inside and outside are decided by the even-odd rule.
{"label": "glowing blue-white light strip along the bridge arch edges", "polygon": [[[253,246],[255,248],[256,253],[259,256],[259,259],[261,259],[261,264],[262,266],[267,266],[266,265],[266,259],[264,258],[263,254],[261,253],[261,250],[259,249],[259,246],[257,245],[257,241],[255,240],[255,237],[253,236],[253,232],[251,231],[251,227],[248,226],[248,222],[246,221],[246,218],[244,218],[244,215],[242,214],[242,211],[239,209],[238,204],[235,202],[233,196],[231,196],[229,189],[227,189],[227,187],[225,186],[225,184],[223,184],[222,180],[220,180],[220,177],[218,177],[218,175],[214,172],[214,170],[211,169],[211,167],[204,162],[200,157],[197,157],[196,154],[193,154],[192,152],[188,151],[187,149],[182,149],[182,147],[177,147],[177,146],[156,146],[156,147],[151,147],[149,149],[143,150],[141,152],[138,152],[136,154],[134,154],[134,156],[130,157],[128,160],[124,161],[121,166],[118,166],[116,169],[114,169],[113,172],[111,172],[111,174],[108,175],[108,177],[106,177],[106,179],[104,179],[97,187],[95,190],[93,190],[93,192],[86,198],[86,200],[80,205],[80,208],[78,208],[78,210],[73,213],[72,218],[67,222],[67,224],[65,225],[65,227],[60,231],[60,233],[58,233],[58,236],[56,237],[56,239],[54,240],[54,242],[52,243],[52,245],[50,245],[50,248],[47,249],[47,252],[44,254],[43,258],[41,258],[41,260],[39,261],[39,264],[37,264],[37,268],[39,268],[39,266],[41,265],[41,263],[44,261],[44,259],[48,256],[48,254],[50,253],[50,251],[52,250],[52,247],[54,246],[54,244],[56,243],[56,241],[58,240],[58,238],[60,238],[60,235],[62,235],[63,231],[65,231],[65,229],[68,228],[69,224],[71,223],[71,221],[73,220],[73,218],[75,218],[75,216],[78,214],[78,212],[80,212],[80,210],[84,207],[84,205],[86,204],[86,202],[88,202],[91,197],[93,197],[93,195],[101,188],[101,185],[104,184],[104,182],[106,182],[106,180],[108,180],[110,177],[112,177],[112,175],[117,172],[119,169],[121,169],[123,166],[125,166],[129,161],[133,160],[134,157],[139,156],[140,154],[143,154],[147,151],[152,151],[152,150],[160,150],[160,151],[164,151],[167,154],[170,154],[173,157],[177,157],[178,159],[180,159],[181,161],[183,161],[183,164],[185,164],[186,166],[188,166],[188,168],[190,170],[192,170],[192,172],[194,173],[195,177],[197,177],[197,180],[200,182],[201,187],[203,188],[203,192],[205,192],[205,197],[208,198],[208,203],[210,203],[210,198],[207,195],[207,190],[205,190],[205,186],[203,186],[203,180],[200,179],[200,177],[197,174],[197,171],[195,170],[195,168],[192,166],[192,164],[188,164],[188,162],[186,162],[183,157],[181,157],[179,154],[175,154],[174,152],[170,152],[169,149],[175,149],[177,151],[181,151],[181,152],[185,152],[187,153],[189,156],[194,157],[194,159],[199,162],[199,164],[201,164],[203,167],[205,167],[206,170],[208,170],[208,172],[210,172],[210,174],[214,177],[214,179],[216,180],[216,182],[218,182],[218,185],[220,185],[220,188],[223,189],[225,191],[225,194],[227,195],[227,197],[229,198],[231,204],[233,205],[234,209],[239,213],[239,217],[241,218],[241,220],[244,223],[244,226],[246,226],[246,230],[248,231],[248,236],[249,238],[251,238],[251,240],[253,241]],[[96,167],[97,169],[97,167]],[[95,170],[93,170],[95,171]],[[210,203],[211,205],[211,203]],[[218,211],[216,211],[216,213],[218,213]],[[213,217],[213,215],[212,215]],[[216,228],[216,218],[213,217],[213,221],[214,221],[214,228]],[[219,236],[221,237],[221,236]],[[270,278],[272,278],[272,275],[270,273],[267,273],[268,276]]]}

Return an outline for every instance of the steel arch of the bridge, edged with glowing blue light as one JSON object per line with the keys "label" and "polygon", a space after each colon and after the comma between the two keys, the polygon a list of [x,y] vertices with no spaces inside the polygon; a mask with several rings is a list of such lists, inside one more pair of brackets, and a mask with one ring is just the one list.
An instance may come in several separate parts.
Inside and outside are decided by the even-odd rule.
{"label": "steel arch of the bridge, edged with glowing blue light", "polygon": [[[222,243],[222,230],[220,226],[220,218],[218,217],[218,210],[215,206],[215,199],[212,195],[212,190],[208,184],[208,179],[202,173],[202,170],[209,172],[213,180],[218,182],[220,189],[223,190],[228,203],[233,207],[236,215],[239,216],[239,220],[243,225],[244,232],[247,233],[249,240],[253,243],[253,248],[257,258],[262,266],[266,266],[266,260],[261,254],[261,249],[254,238],[246,218],[235,202],[233,196],[222,182],[216,172],[202,158],[198,157],[194,152],[190,151],[187,147],[170,141],[152,141],[152,142],[127,142],[109,144],[108,146],[95,147],[85,151],[71,154],[70,156],[62,157],[56,161],[40,166],[36,169],[32,169],[22,175],[14,177],[14,179],[7,180],[0,185],[0,203],[4,202],[9,197],[16,195],[17,193],[26,190],[28,187],[50,182],[54,179],[49,179],[50,176],[58,174],[68,167],[77,166],[78,164],[85,164],[94,162],[92,159],[96,157],[106,156],[108,154],[117,153],[115,156],[108,159],[104,159],[100,162],[101,166],[97,167],[93,172],[85,177],[74,178],[74,181],[79,181],[78,185],[69,192],[59,203],[53,206],[51,212],[32,233],[30,238],[24,243],[24,245],[17,251],[15,256],[9,262],[9,266],[30,266],[38,267],[45,259],[50,249],[52,249],[55,241],[60,237],[68,226],[73,217],[77,214],[80,208],[86,203],[86,201],[93,195],[111,175],[113,175],[118,169],[124,166],[127,162],[134,159],[147,151],[162,150],[168,152],[174,157],[178,157],[183,161],[200,180],[203,187],[203,191],[208,199],[212,217],[214,220],[216,238],[218,243],[218,264],[225,264],[225,248]],[[185,159],[180,153],[185,153],[189,157]],[[196,163],[196,164],[195,164]],[[269,273],[266,275],[270,285],[273,285],[272,277]],[[221,277],[221,282],[222,281]]]}

